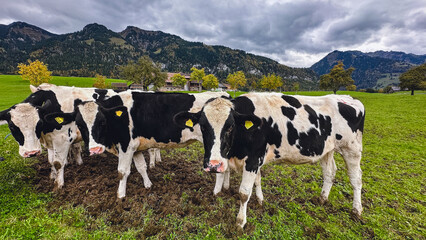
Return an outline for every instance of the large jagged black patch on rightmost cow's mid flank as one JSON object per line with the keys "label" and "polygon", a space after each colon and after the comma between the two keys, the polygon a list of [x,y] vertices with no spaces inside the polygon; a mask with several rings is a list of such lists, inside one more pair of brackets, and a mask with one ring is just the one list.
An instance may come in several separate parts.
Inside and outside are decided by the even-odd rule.
{"label": "large jagged black patch on rightmost cow's mid flank", "polygon": [[[310,115],[311,116],[311,115]],[[287,140],[290,145],[295,145],[299,149],[300,154],[304,156],[321,155],[324,151],[325,141],[331,135],[331,118],[330,116],[317,116],[319,130],[310,128],[307,132],[298,132],[293,124],[287,122]]]}

